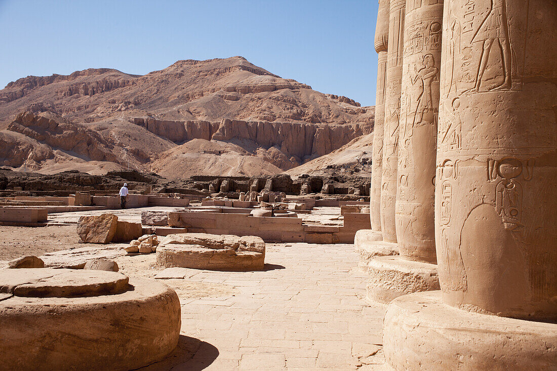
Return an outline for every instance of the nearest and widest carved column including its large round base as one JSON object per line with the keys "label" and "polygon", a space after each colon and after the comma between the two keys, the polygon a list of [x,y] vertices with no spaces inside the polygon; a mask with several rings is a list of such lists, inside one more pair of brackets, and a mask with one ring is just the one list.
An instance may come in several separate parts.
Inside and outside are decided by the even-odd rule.
{"label": "nearest and widest carved column including its large round base", "polygon": [[389,305],[385,358],[396,370],[554,369],[557,2],[451,0],[443,39],[441,292]]}

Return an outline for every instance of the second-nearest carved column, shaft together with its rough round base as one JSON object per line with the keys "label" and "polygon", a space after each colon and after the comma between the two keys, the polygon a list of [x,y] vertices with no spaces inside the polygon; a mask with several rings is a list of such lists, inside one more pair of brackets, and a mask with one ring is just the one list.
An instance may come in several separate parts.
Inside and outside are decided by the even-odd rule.
{"label": "second-nearest carved column, shaft together with its rough round base", "polygon": [[372,301],[439,290],[433,180],[442,21],[443,0],[407,0],[395,213],[400,256],[369,261],[367,296]]}

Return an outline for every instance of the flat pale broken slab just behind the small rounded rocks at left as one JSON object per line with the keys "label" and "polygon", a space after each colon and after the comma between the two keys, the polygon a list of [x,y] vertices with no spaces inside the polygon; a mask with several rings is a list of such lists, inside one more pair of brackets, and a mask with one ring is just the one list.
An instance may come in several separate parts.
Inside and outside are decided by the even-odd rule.
{"label": "flat pale broken slab just behind the small rounded rocks at left", "polygon": [[71,250],[48,252],[40,258],[45,262],[45,267],[83,269],[89,260],[106,258],[113,260],[124,256],[125,251],[119,246],[106,247],[81,247]]}

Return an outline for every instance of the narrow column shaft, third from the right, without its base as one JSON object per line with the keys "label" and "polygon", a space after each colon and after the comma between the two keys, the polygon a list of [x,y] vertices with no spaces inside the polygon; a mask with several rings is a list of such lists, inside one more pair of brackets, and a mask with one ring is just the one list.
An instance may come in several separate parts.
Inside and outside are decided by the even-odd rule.
{"label": "narrow column shaft, third from the right, without its base", "polygon": [[397,155],[405,5],[406,0],[390,0],[389,6],[389,50],[387,52],[383,174],[381,180],[381,230],[383,241],[386,242],[397,242],[394,212],[397,199]]}

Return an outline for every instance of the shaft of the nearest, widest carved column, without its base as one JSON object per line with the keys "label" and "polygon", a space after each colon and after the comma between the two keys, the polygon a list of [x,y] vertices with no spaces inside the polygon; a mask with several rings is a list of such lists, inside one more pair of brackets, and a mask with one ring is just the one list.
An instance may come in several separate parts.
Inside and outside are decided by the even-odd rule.
{"label": "shaft of the nearest, widest carved column, without its base", "polygon": [[557,2],[447,2],[441,71],[443,300],[555,320]]}

